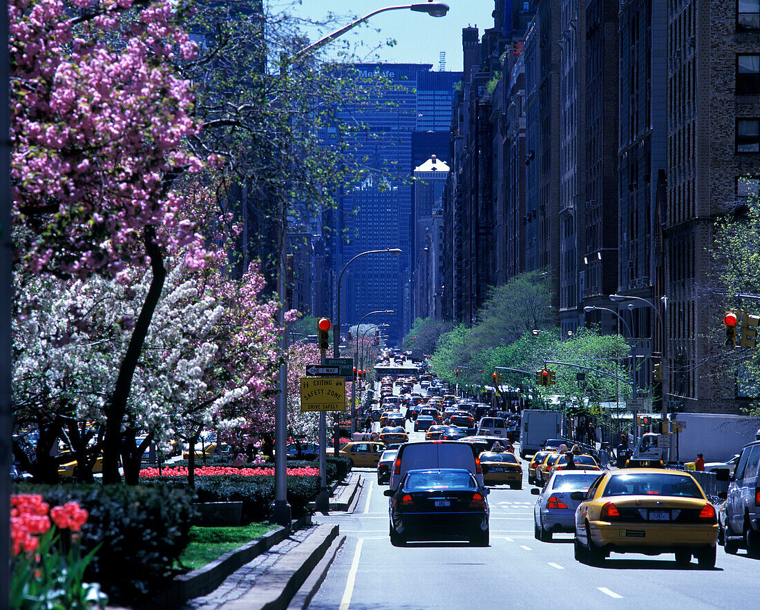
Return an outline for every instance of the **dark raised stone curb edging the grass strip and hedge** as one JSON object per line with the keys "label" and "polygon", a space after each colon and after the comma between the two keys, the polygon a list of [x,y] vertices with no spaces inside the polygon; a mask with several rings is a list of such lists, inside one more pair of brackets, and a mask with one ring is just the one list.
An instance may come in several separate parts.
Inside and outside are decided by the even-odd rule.
{"label": "dark raised stone curb edging the grass strip and hedge", "polygon": [[[306,515],[294,520],[291,524],[291,531],[301,530],[312,523],[312,516]],[[226,552],[210,564],[204,565],[203,568],[188,572],[175,577],[172,585],[161,593],[158,593],[150,602],[145,605],[135,606],[135,608],[178,608],[188,599],[201,597],[213,592],[224,582],[226,577],[233,574],[234,571],[243,565],[252,561],[261,553],[267,552],[273,546],[279,544],[290,536],[290,532],[285,527],[278,527],[276,530],[265,533],[251,542],[238,549]]]}

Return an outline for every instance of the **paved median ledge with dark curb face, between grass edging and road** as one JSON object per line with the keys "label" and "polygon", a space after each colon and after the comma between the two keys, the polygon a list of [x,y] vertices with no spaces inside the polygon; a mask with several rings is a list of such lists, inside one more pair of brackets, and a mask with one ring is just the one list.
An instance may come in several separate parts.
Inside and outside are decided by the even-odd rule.
{"label": "paved median ledge with dark curb face, between grass edging and road", "polygon": [[[337,538],[338,531],[337,524],[318,525],[315,533],[290,551],[287,558],[274,564],[257,581],[252,594],[225,604],[226,610],[287,610],[290,600]],[[297,567],[293,569],[293,566]],[[252,596],[256,599],[252,599]]]}

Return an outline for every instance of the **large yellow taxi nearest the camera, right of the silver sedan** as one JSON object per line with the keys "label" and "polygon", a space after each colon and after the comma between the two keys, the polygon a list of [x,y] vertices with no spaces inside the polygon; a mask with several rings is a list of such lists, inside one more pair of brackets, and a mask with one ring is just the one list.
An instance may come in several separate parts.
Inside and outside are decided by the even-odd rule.
{"label": "large yellow taxi nearest the camera, right of the silver sedan", "polygon": [[575,558],[592,564],[610,552],[675,553],[714,568],[717,514],[694,477],[680,470],[625,468],[603,473],[575,511]]}

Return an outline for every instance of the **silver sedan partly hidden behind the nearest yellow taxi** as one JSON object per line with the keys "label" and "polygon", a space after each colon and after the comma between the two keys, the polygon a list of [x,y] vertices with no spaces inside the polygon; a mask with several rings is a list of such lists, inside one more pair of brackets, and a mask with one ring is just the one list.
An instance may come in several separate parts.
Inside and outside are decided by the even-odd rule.
{"label": "silver sedan partly hidden behind the nearest yellow taxi", "polygon": [[575,509],[581,502],[570,498],[571,492],[585,492],[600,472],[561,470],[552,473],[543,489],[530,490],[538,495],[534,508],[534,535],[549,542],[555,532],[575,532]]}

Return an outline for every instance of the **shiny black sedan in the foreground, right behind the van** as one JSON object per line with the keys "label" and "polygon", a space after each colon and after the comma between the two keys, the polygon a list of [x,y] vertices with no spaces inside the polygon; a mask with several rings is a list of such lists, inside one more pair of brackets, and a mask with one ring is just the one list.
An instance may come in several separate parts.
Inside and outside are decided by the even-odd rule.
{"label": "shiny black sedan in the foreground, right behind the van", "polygon": [[391,544],[404,546],[412,539],[467,539],[488,546],[488,492],[468,470],[409,470],[396,490],[385,491],[391,498]]}

